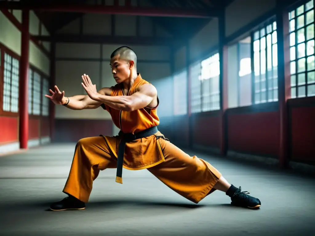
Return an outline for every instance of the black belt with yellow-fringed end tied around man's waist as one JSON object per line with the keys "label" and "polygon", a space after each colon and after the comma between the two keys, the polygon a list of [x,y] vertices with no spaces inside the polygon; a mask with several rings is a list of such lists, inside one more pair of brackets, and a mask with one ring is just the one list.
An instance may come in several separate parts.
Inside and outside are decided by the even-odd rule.
{"label": "black belt with yellow-fringed end tied around man's waist", "polygon": [[139,133],[132,134],[132,133],[123,133],[122,131],[119,131],[119,136],[122,137],[119,146],[118,146],[118,154],[117,154],[117,173],[116,173],[116,182],[117,183],[123,183],[123,156],[125,153],[125,146],[126,143],[135,141],[139,138],[146,138],[153,134],[158,132],[157,126],[153,126],[151,128],[148,128],[146,130],[143,130]]}

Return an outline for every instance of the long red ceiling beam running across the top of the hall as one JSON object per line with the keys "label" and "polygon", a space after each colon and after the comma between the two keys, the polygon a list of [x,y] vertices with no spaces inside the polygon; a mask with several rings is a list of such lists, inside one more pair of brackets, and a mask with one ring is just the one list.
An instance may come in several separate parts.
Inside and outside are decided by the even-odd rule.
{"label": "long red ceiling beam running across the top of the hall", "polygon": [[29,9],[45,12],[78,12],[94,14],[112,14],[112,15],[139,15],[139,16],[159,16],[159,17],[184,17],[184,18],[210,18],[217,17],[218,11],[215,8],[207,10],[196,9],[176,9],[176,8],[152,8],[152,7],[129,7],[129,6],[102,6],[102,5],[60,5],[56,3],[37,4],[20,2],[0,2],[2,9]]}

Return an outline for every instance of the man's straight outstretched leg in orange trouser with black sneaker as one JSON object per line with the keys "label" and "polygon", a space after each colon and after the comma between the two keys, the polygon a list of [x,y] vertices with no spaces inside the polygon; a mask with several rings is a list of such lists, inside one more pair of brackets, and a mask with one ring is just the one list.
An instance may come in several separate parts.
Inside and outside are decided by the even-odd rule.
{"label": "man's straight outstretched leg in orange trouser with black sneaker", "polygon": [[253,209],[260,207],[259,199],[253,198],[229,184],[221,173],[207,161],[196,156],[189,156],[162,138],[159,141],[165,162],[148,170],[178,194],[198,203],[215,190],[220,190],[231,197],[233,205]]}

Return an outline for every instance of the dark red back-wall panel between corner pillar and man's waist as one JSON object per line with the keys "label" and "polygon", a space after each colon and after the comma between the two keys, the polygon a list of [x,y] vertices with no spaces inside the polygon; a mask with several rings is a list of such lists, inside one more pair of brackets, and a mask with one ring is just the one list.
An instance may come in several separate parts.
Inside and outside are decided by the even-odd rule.
{"label": "dark red back-wall panel between corner pillar and man's waist", "polygon": [[77,142],[81,138],[112,136],[112,120],[56,119],[54,142]]}

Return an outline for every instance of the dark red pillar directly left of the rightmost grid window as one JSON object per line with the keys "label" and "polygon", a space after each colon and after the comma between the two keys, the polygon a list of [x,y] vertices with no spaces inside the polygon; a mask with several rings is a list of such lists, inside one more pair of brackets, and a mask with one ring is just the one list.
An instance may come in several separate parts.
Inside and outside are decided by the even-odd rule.
{"label": "dark red pillar directly left of the rightmost grid window", "polygon": [[290,87],[290,41],[289,14],[284,1],[277,1],[277,38],[278,38],[278,100],[280,114],[279,164],[282,168],[289,164],[289,124],[287,100],[291,97]]}

